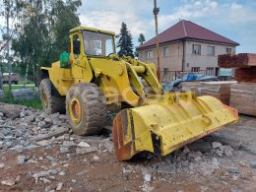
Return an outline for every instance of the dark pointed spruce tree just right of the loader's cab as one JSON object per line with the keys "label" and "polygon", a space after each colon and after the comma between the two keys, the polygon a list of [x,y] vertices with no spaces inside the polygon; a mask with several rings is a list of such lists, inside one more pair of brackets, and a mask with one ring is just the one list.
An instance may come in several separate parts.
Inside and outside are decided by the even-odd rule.
{"label": "dark pointed spruce tree just right of the loader's cab", "polygon": [[118,35],[119,39],[117,42],[117,47],[120,48],[118,54],[120,56],[126,55],[134,57],[133,54],[133,42],[132,34],[127,30],[127,25],[122,23],[120,33]]}

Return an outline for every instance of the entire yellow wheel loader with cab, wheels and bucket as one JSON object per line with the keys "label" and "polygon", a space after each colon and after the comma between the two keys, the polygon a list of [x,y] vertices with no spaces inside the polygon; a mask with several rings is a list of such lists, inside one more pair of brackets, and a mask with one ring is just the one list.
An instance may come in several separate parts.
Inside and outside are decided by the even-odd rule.
{"label": "entire yellow wheel loader with cab, wheels and bucket", "polygon": [[122,110],[113,121],[118,160],[140,152],[165,156],[238,120],[237,110],[212,96],[164,93],[154,64],[119,57],[115,34],[78,27],[70,50],[50,68],[41,68],[40,98],[47,113],[66,110],[78,135],[98,133],[107,106]]}

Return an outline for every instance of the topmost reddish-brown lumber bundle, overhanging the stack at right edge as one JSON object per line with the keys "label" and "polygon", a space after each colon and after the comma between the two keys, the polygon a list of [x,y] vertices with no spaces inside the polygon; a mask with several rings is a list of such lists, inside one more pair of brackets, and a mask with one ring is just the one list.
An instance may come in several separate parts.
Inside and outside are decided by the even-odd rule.
{"label": "topmost reddish-brown lumber bundle, overhanging the stack at right edge", "polygon": [[222,68],[243,68],[256,66],[256,54],[224,54],[218,56],[219,66]]}

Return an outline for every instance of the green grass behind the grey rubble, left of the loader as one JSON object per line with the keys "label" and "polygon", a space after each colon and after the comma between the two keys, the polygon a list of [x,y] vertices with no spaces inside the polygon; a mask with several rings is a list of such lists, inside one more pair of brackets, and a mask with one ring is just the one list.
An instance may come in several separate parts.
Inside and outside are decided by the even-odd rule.
{"label": "green grass behind the grey rubble, left of the loader", "polygon": [[[23,85],[12,85],[12,90],[24,89]],[[26,89],[34,89],[34,85],[30,84],[26,86]],[[10,104],[21,104],[29,106],[35,109],[42,109],[41,101],[39,96],[34,96],[32,100],[23,99],[15,100],[13,96],[9,93],[8,85],[4,85],[5,97],[0,99],[0,102],[10,103]]]}

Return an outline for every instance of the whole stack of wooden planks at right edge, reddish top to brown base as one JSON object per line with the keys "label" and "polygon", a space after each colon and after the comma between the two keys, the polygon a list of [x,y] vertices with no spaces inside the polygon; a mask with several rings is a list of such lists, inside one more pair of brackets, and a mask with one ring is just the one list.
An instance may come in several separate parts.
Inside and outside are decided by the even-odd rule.
{"label": "whole stack of wooden planks at right edge, reddish top to brown base", "polygon": [[230,106],[240,113],[256,116],[256,54],[220,55],[219,66],[236,68],[235,81],[230,89]]}

